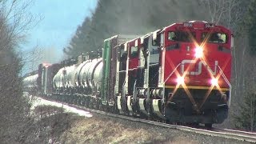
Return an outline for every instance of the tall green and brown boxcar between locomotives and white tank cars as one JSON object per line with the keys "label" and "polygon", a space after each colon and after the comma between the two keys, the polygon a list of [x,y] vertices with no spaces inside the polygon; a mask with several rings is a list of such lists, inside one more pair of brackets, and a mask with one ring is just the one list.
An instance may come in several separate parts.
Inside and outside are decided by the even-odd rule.
{"label": "tall green and brown boxcar between locomotives and white tank cars", "polygon": [[[114,37],[107,38],[104,41],[102,59],[103,59],[103,73],[102,73],[102,89],[101,89],[101,101],[103,105],[116,106],[116,84],[118,85],[119,80],[117,79],[118,73],[118,47],[123,46],[122,43],[127,42],[138,35],[125,35],[119,34]],[[120,45],[122,44],[122,45]]]}

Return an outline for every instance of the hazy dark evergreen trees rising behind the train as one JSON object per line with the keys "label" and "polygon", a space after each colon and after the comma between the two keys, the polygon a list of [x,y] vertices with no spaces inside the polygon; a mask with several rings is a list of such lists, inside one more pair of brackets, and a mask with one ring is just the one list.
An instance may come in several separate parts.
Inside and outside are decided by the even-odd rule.
{"label": "hazy dark evergreen trees rising behind the train", "polygon": [[116,34],[147,34],[173,22],[208,20],[201,0],[98,0],[94,14],[78,26],[63,51],[70,57],[102,48],[102,42]]}

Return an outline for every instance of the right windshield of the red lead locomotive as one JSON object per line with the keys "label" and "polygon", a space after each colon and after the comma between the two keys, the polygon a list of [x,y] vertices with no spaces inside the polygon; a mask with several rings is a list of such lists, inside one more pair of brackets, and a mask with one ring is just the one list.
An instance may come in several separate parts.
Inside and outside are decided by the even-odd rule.
{"label": "right windshield of the red lead locomotive", "polygon": [[206,41],[206,38],[208,38],[207,42],[210,43],[226,43],[227,42],[227,36],[224,33],[202,33],[201,35],[201,42]]}

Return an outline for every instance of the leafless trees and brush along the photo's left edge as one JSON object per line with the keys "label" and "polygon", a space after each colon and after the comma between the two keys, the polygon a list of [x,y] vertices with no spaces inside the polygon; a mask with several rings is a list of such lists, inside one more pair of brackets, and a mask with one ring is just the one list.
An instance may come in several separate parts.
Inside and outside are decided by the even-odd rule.
{"label": "leafless trees and brush along the photo's left edge", "polygon": [[34,17],[27,14],[30,2],[0,1],[0,141],[17,143],[21,127],[26,121],[27,101],[22,97],[22,69],[18,48],[26,32],[34,25]]}

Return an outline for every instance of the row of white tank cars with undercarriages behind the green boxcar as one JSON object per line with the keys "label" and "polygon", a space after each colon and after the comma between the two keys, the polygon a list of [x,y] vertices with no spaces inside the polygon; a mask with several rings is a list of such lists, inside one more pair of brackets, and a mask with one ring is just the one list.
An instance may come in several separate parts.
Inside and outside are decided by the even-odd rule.
{"label": "row of white tank cars with undercarriages behind the green boxcar", "polygon": [[[90,53],[94,55],[94,52]],[[64,65],[54,76],[54,94],[66,102],[96,103],[102,81],[102,58],[82,55],[78,62]]]}

